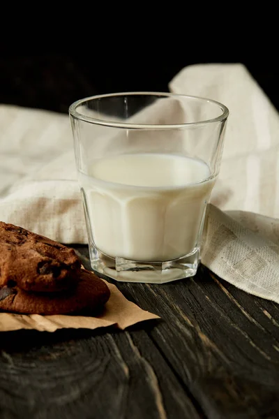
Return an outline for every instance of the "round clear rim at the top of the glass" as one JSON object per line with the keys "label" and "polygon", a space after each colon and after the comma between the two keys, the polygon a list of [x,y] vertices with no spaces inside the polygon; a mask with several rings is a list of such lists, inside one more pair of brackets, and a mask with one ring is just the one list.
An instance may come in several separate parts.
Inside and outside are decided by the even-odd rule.
{"label": "round clear rim at the top of the glass", "polygon": [[[197,122],[183,122],[182,124],[133,124],[130,122],[116,122],[110,119],[98,119],[96,117],[88,117],[81,112],[77,111],[77,108],[88,102],[94,101],[96,99],[101,98],[110,98],[116,96],[160,96],[160,97],[170,97],[170,98],[188,98],[194,99],[201,102],[211,103],[213,105],[217,105],[222,113],[218,115],[218,117],[204,119],[202,121]],[[89,124],[96,124],[96,125],[103,125],[110,128],[130,128],[130,129],[179,129],[179,128],[186,128],[188,126],[199,126],[204,124],[211,124],[213,122],[222,122],[227,119],[229,116],[229,109],[227,106],[223,105],[218,101],[214,101],[213,99],[205,98],[202,96],[193,96],[193,95],[186,95],[186,94],[174,94],[169,92],[160,92],[160,91],[123,91],[119,93],[109,93],[109,94],[99,94],[88,96],[86,98],[79,99],[78,101],[73,102],[69,107],[69,114],[71,117],[76,119],[80,119],[84,122],[89,122]]]}

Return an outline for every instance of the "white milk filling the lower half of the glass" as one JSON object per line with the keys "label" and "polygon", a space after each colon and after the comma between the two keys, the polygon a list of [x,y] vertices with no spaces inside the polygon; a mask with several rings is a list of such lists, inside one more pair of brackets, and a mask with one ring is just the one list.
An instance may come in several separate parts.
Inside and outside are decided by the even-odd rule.
{"label": "white milk filling the lower half of the glass", "polygon": [[123,154],[80,174],[93,241],[107,256],[164,261],[198,244],[214,179],[203,161]]}

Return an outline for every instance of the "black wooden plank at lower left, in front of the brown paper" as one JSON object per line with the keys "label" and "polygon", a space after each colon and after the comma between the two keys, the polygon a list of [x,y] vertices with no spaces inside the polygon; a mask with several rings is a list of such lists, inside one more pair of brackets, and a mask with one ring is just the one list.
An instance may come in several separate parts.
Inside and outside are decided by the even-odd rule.
{"label": "black wooden plank at lower left, in front of the brown paper", "polygon": [[202,417],[142,329],[0,338],[1,419]]}

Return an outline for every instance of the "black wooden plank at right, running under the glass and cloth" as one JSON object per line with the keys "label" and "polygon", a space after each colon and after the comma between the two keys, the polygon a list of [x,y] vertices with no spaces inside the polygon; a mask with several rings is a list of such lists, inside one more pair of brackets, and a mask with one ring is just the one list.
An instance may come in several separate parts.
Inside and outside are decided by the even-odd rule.
{"label": "black wooden plank at right, running under the glass and cloth", "polygon": [[[79,249],[88,263],[88,253]],[[279,417],[279,309],[204,267],[165,285],[116,283],[162,316],[149,336],[209,418]]]}

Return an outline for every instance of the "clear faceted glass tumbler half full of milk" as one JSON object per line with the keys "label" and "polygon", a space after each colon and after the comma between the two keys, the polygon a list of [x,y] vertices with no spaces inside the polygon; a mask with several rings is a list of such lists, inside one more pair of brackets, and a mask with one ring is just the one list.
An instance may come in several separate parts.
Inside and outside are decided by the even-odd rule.
{"label": "clear faceted glass tumbler half full of milk", "polygon": [[118,281],[193,277],[229,111],[129,92],[70,106],[91,266]]}

